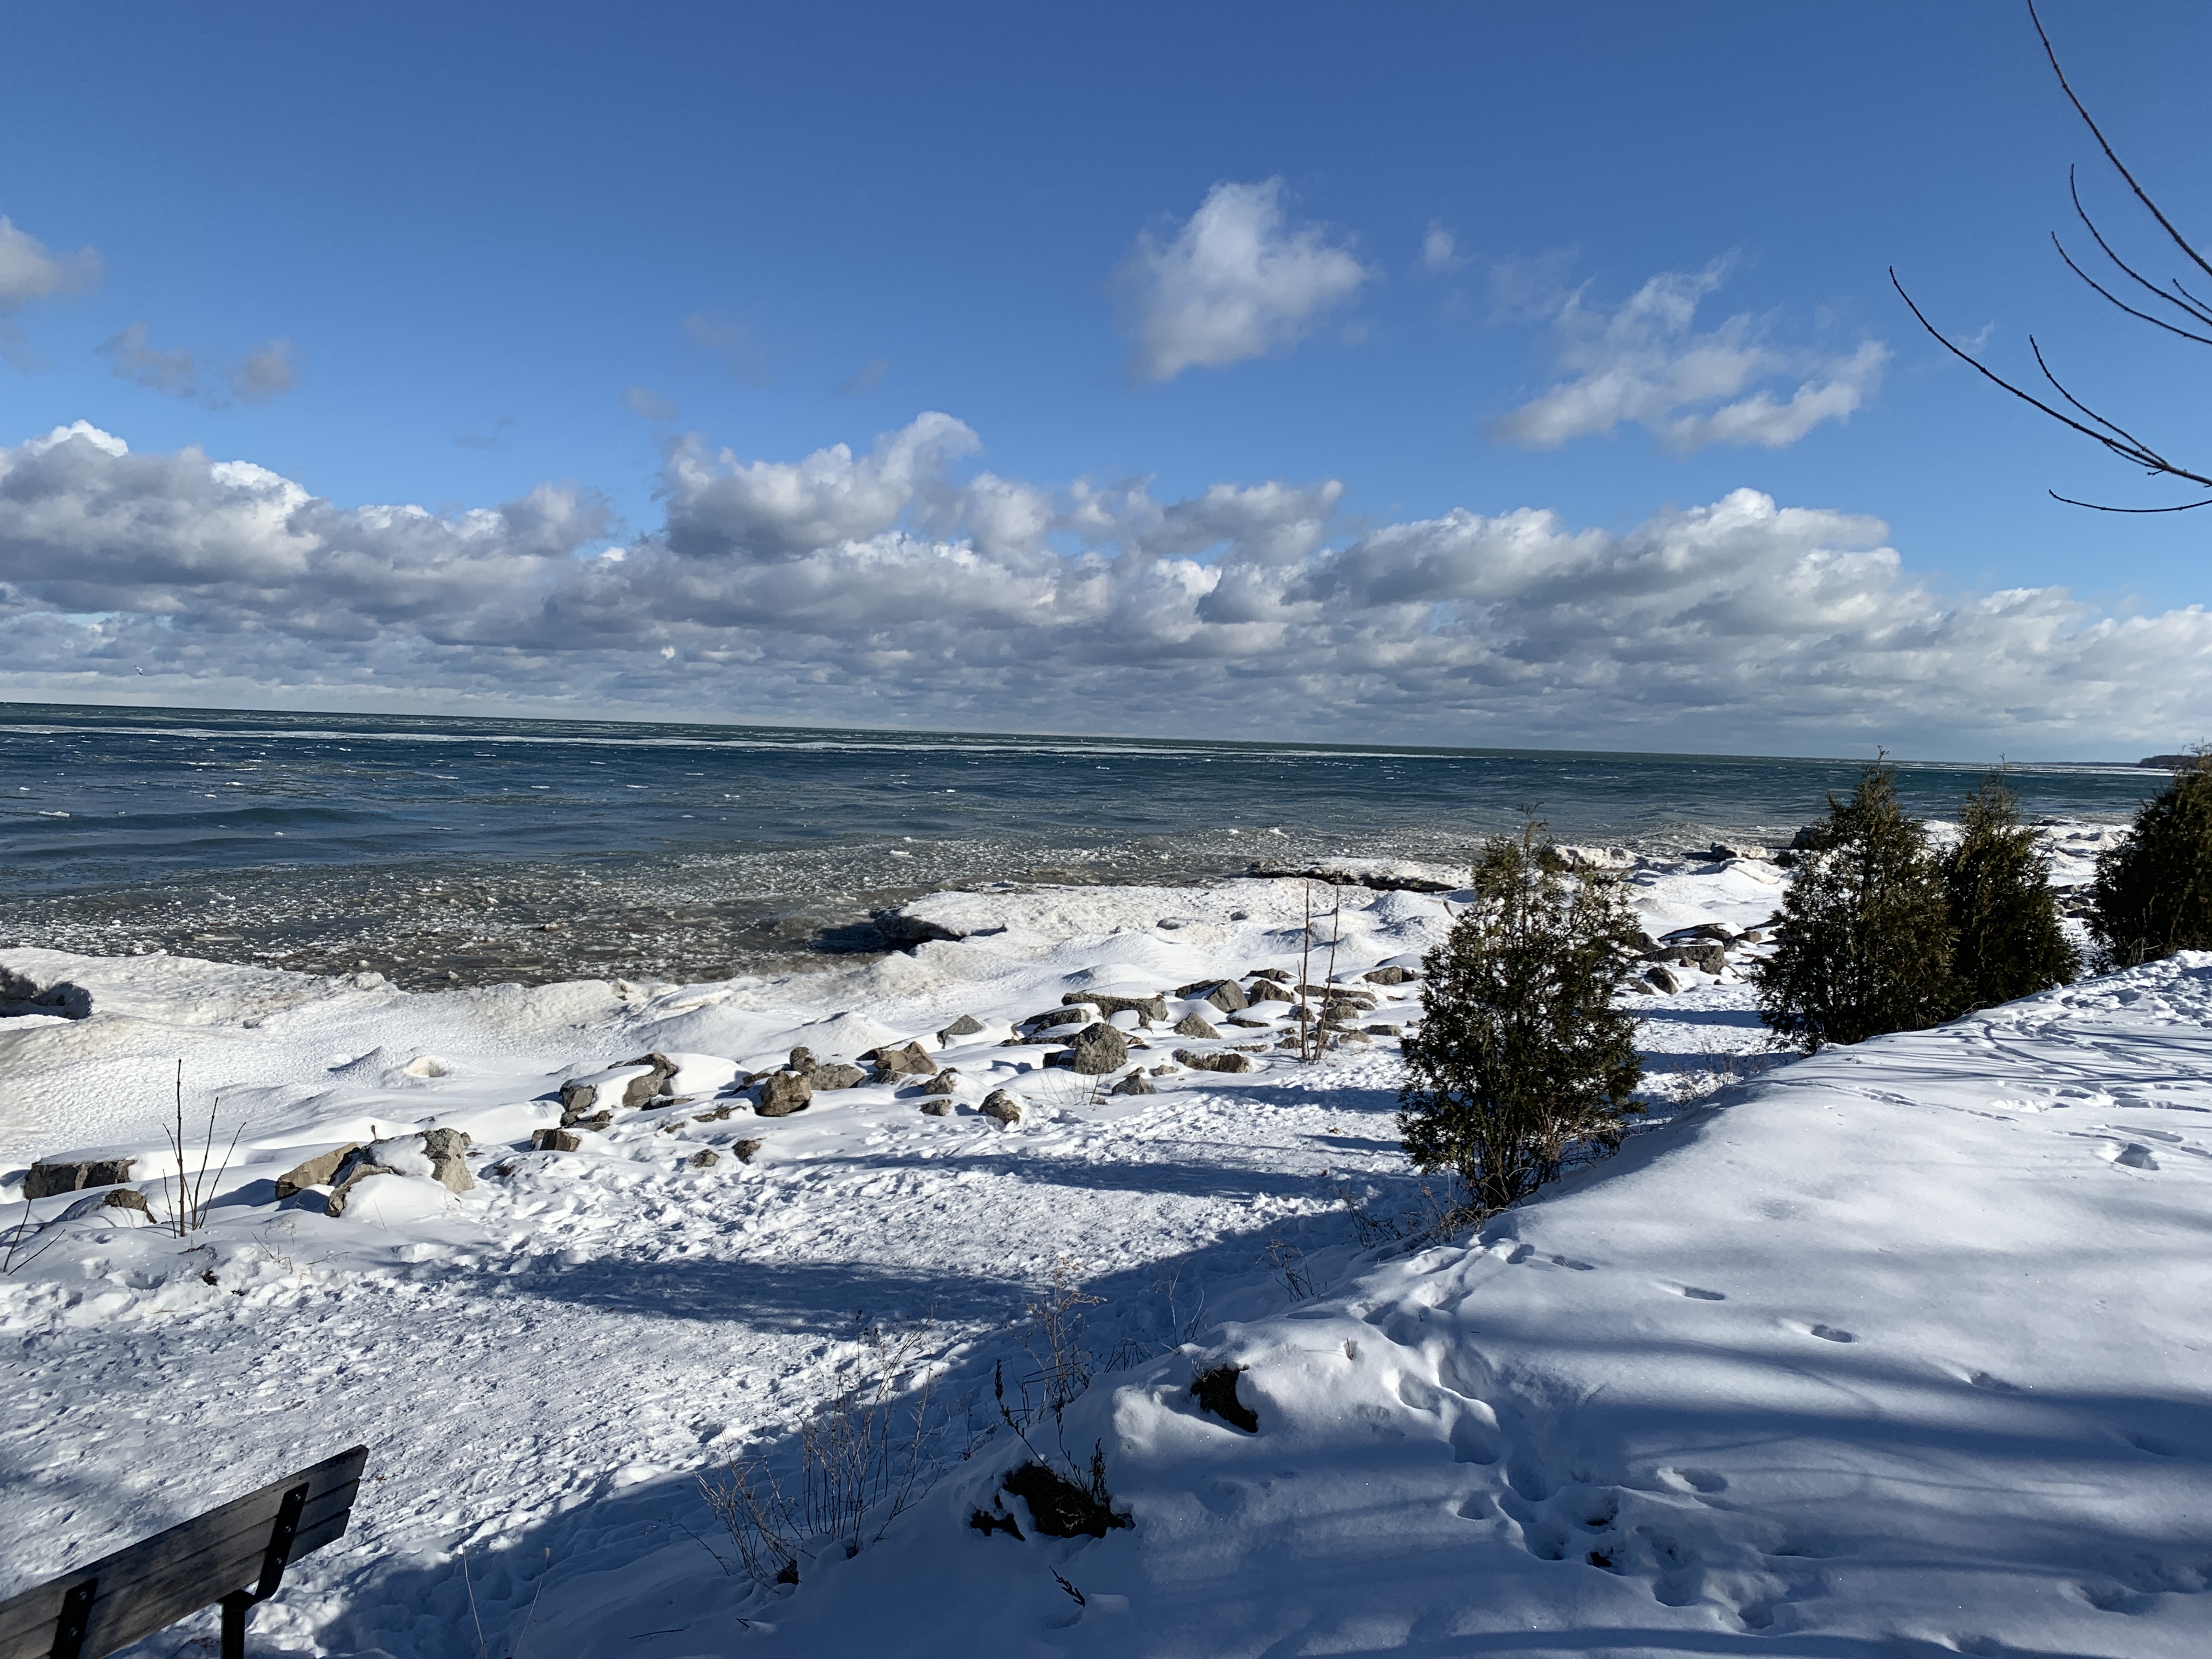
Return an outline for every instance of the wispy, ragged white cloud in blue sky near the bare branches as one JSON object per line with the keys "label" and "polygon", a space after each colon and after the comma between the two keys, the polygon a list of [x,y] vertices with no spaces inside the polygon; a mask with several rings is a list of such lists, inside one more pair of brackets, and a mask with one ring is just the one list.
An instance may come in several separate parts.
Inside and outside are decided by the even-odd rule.
{"label": "wispy, ragged white cloud in blue sky near the bare branches", "polygon": [[[1522,310],[1548,312],[1571,378],[1506,414],[1493,434],[1557,449],[1632,420],[1677,453],[1705,445],[1783,449],[1823,420],[1847,420],[1876,394],[1889,363],[1880,341],[1840,356],[1785,349],[1750,312],[1697,332],[1697,310],[1725,281],[1728,263],[1661,272],[1613,312],[1586,303],[1588,285],[1548,303],[1522,296]],[[1502,285],[1513,288],[1511,272]],[[1776,380],[1794,385],[1778,394]]]}

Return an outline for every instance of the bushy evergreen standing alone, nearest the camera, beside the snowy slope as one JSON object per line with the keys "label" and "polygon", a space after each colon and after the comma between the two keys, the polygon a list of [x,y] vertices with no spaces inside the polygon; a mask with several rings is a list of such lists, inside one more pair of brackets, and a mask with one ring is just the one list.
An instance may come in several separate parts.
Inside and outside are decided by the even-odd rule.
{"label": "bushy evergreen standing alone, nearest the camera, beside the snowy slope", "polygon": [[1489,841],[1473,902],[1422,960],[1398,1130],[1418,1170],[1451,1170],[1480,1214],[1559,1172],[1575,1141],[1619,1146],[1644,1079],[1635,1018],[1613,1002],[1637,925],[1619,880],[1571,876],[1542,825]]}

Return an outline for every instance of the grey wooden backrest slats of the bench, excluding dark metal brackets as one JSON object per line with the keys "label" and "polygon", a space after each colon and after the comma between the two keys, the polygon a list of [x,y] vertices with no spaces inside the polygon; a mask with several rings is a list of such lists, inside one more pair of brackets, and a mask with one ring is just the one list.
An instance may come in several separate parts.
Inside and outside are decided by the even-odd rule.
{"label": "grey wooden backrest slats of the bench, excluding dark metal brackets", "polygon": [[82,1659],[128,1648],[230,1590],[250,1588],[261,1577],[261,1557],[268,1553],[283,1495],[303,1482],[307,1486],[307,1506],[285,1555],[288,1562],[296,1562],[307,1551],[343,1537],[367,1460],[367,1447],[341,1451],[312,1469],[272,1480],[206,1515],[0,1601],[0,1659],[49,1659],[62,1597],[86,1577],[95,1577],[100,1590],[93,1597]]}

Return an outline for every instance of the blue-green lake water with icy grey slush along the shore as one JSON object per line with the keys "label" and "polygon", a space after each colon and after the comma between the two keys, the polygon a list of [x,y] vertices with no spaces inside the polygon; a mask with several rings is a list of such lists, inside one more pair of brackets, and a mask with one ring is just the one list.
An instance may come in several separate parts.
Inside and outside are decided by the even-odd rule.
{"label": "blue-green lake water with icy grey slush along the shore", "polygon": [[[1787,841],[1858,761],[0,703],[0,942],[403,984],[721,978],[980,883],[1214,880],[1564,841]],[[1975,765],[1900,765],[1949,816]],[[2031,816],[2163,781],[2015,765]]]}

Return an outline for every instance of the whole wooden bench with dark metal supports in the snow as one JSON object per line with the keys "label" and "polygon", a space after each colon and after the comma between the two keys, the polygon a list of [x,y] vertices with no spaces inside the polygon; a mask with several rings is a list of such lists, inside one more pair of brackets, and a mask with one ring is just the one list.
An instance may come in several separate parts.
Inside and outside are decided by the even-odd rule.
{"label": "whole wooden bench with dark metal supports in the snow", "polygon": [[223,1659],[246,1659],[246,1613],[283,1571],[345,1533],[367,1447],[155,1533],[0,1601],[0,1659],[102,1659],[223,1604]]}

